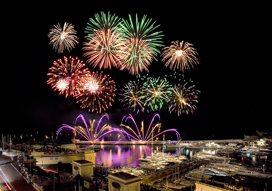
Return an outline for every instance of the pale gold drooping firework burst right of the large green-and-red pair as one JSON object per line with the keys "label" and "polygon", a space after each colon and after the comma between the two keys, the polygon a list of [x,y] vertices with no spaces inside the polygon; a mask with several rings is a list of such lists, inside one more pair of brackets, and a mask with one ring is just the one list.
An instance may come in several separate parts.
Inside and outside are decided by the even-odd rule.
{"label": "pale gold drooping firework burst right of the large green-and-red pair", "polygon": [[193,67],[193,63],[199,64],[196,58],[196,49],[191,47],[193,44],[188,42],[172,42],[170,47],[163,48],[162,61],[166,61],[165,66],[170,66],[170,69],[186,70]]}

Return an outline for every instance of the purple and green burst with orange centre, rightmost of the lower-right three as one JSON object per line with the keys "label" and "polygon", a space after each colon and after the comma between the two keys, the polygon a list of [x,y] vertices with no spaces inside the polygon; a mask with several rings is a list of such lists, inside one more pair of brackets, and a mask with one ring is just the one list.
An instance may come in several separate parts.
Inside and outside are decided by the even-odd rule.
{"label": "purple and green burst with orange centre, rightmost of the lower-right three", "polygon": [[194,103],[198,102],[199,93],[198,90],[194,89],[194,86],[189,86],[186,88],[187,83],[184,85],[175,85],[170,89],[169,95],[169,111],[178,113],[189,113],[192,112],[196,108]]}

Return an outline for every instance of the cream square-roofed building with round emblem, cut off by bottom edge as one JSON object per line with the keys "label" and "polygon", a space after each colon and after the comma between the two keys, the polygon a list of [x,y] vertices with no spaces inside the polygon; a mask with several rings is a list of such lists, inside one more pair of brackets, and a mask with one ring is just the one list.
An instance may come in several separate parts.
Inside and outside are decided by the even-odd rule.
{"label": "cream square-roofed building with round emblem, cut off by bottom edge", "polygon": [[140,191],[141,178],[125,172],[109,174],[108,191]]}

